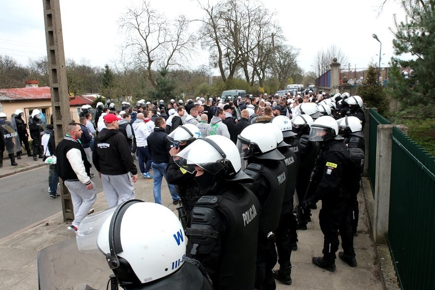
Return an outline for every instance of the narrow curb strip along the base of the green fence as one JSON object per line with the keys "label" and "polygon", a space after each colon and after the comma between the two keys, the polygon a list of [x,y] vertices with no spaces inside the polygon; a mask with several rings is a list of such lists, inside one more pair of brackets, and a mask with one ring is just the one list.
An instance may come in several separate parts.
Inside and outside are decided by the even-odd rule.
{"label": "narrow curb strip along the base of the green fence", "polygon": [[[364,192],[364,199],[366,203],[366,210],[368,213],[370,237],[373,239],[373,219],[374,219],[374,199],[370,182],[367,177],[361,179],[361,188]],[[386,290],[400,290],[399,283],[397,282],[396,270],[394,269],[393,259],[391,258],[390,249],[388,245],[374,244],[376,253],[376,261],[379,267],[380,280]]]}

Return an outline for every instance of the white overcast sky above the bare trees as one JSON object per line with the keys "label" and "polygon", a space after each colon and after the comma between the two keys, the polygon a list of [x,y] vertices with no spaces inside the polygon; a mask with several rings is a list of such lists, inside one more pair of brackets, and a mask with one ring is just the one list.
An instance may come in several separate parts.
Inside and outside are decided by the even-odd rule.
{"label": "white overcast sky above the bare trees", "polygon": [[[393,56],[391,27],[393,14],[403,19],[402,9],[393,1],[379,14],[380,0],[300,0],[264,1],[283,29],[287,44],[300,49],[298,64],[309,71],[319,50],[331,44],[347,55],[351,68],[367,67],[379,61],[382,42],[382,65]],[[130,0],[60,0],[65,57],[76,62],[86,60],[103,67],[119,58],[122,37],[118,19],[130,5]],[[167,15],[185,14],[188,18],[203,15],[196,1],[151,0],[151,6]],[[44,19],[41,0],[2,1],[0,9],[0,54],[13,57],[27,65],[29,58],[46,55]],[[194,64],[208,65],[206,53],[199,53]],[[348,64],[342,64],[342,68]]]}

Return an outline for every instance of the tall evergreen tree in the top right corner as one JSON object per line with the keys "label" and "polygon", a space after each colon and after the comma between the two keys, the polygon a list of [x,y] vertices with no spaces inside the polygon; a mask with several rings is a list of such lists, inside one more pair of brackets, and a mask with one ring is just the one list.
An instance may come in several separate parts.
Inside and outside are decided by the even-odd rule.
{"label": "tall evergreen tree in the top right corner", "polygon": [[[401,0],[406,20],[396,20],[388,91],[402,105],[433,105],[435,103],[435,2],[433,0]],[[415,58],[403,60],[403,54]],[[408,78],[401,75],[409,68]]]}

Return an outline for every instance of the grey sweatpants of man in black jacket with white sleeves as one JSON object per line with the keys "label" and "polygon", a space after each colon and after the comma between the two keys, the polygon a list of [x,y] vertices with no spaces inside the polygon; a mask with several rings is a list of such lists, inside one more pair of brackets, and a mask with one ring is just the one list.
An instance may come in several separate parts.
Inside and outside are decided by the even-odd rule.
{"label": "grey sweatpants of man in black jacket with white sleeves", "polygon": [[95,184],[91,181],[93,188],[87,189],[81,181],[65,181],[65,186],[71,194],[72,206],[74,207],[74,221],[72,225],[79,227],[83,219],[88,215],[96,201]]}

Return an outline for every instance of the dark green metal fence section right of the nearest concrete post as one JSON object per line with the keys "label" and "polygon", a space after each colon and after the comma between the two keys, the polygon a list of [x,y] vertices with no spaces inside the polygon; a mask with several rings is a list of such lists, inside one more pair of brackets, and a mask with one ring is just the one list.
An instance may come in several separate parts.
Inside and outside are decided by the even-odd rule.
{"label": "dark green metal fence section right of the nearest concrete post", "polygon": [[388,243],[397,277],[402,289],[435,289],[435,157],[397,128],[392,139]]}

